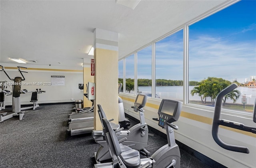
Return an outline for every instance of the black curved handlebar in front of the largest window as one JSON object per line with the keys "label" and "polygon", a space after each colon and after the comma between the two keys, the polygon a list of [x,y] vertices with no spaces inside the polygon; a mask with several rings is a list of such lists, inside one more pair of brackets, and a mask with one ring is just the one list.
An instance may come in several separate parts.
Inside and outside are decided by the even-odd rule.
{"label": "black curved handlebar in front of the largest window", "polygon": [[232,85],[228,86],[226,89],[222,90],[216,98],[214,117],[213,117],[213,123],[212,123],[212,137],[215,140],[215,142],[224,149],[235,151],[235,152],[249,153],[249,149],[247,147],[226,144],[225,142],[223,142],[220,139],[220,137],[218,135],[219,125],[228,126],[228,127],[239,129],[239,130],[245,130],[248,132],[256,133],[256,128],[253,128],[250,126],[245,126],[242,123],[236,123],[233,121],[227,121],[227,120],[220,119],[222,99],[226,94],[228,94],[231,91],[233,91],[234,89],[236,89],[236,87],[237,87],[237,85],[233,83]]}

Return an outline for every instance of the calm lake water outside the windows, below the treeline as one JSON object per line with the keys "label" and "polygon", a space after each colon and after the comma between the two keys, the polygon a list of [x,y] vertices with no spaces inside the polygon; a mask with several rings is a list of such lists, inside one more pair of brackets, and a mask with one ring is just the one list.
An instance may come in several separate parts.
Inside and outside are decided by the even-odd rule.
{"label": "calm lake water outside the windows, below the treeline", "polygon": [[[190,91],[194,88],[194,86],[189,86],[189,100],[201,100],[200,96],[190,94]],[[237,87],[238,91],[240,91],[241,96],[236,101],[236,103],[242,103],[242,97],[246,97],[247,104],[254,104],[256,99],[256,87]],[[151,93],[151,87],[138,87],[139,93]],[[156,87],[156,95],[158,95],[161,99],[176,99],[183,100],[183,86],[157,86]],[[206,101],[211,101],[210,98],[207,98]],[[226,101],[226,103],[233,103],[230,99]]]}

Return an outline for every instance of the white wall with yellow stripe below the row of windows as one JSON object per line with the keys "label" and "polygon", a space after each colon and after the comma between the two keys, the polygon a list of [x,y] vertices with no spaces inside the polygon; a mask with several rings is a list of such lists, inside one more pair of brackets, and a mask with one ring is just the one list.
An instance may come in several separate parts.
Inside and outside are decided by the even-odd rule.
{"label": "white wall with yellow stripe below the row of windows", "polygon": [[[138,114],[133,111],[131,106],[134,106],[135,96],[119,94],[123,99],[125,113],[139,119]],[[164,129],[158,126],[156,121],[152,120],[152,117],[158,117],[158,107],[160,100],[148,99],[145,110],[146,123],[153,128],[161,132],[165,132]],[[236,114],[237,115],[237,114]],[[190,148],[212,158],[216,162],[223,164],[228,168],[255,168],[256,166],[256,136],[255,134],[248,132],[234,132],[234,130],[219,129],[220,138],[228,143],[240,146],[246,146],[250,150],[250,154],[232,152],[225,150],[218,146],[212,138],[212,118],[213,109],[205,108],[200,109],[198,107],[182,107],[181,117],[174,124],[178,125],[179,129],[175,130],[176,140],[186,144]],[[230,121],[236,121],[244,123],[249,126],[256,126],[252,121],[252,115],[240,114],[239,117],[234,113],[229,112],[226,115],[221,115],[221,119]]]}

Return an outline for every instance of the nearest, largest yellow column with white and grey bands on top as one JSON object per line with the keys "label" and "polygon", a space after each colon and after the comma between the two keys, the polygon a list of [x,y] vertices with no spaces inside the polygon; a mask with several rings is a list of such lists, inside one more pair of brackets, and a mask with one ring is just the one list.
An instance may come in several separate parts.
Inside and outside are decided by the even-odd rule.
{"label": "nearest, largest yellow column with white and grey bands on top", "polygon": [[118,33],[94,30],[94,63],[96,100],[94,101],[94,130],[102,130],[98,104],[107,119],[118,124]]}

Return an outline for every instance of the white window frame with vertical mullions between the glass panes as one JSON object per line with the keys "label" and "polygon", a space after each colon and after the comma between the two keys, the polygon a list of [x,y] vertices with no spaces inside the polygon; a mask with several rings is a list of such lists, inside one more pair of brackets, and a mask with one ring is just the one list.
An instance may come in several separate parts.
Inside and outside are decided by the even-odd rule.
{"label": "white window frame with vertical mullions between the glass panes", "polygon": [[[189,87],[189,79],[188,79],[188,42],[189,42],[189,26],[196,23],[196,22],[199,22],[200,20],[203,20],[204,18],[207,18],[208,16],[211,16],[225,8],[228,8],[229,6],[239,2],[240,0],[234,0],[234,1],[227,1],[227,2],[224,2],[222,3],[220,6],[214,8],[213,10],[210,10],[208,12],[205,12],[204,14],[182,24],[181,26],[177,27],[176,29],[164,34],[163,36],[153,40],[152,42],[150,43],[147,43],[146,45],[140,47],[139,49],[136,49],[135,51],[133,51],[132,53],[129,53],[128,55],[120,58],[119,60],[121,59],[124,59],[124,85],[126,83],[125,79],[125,66],[126,66],[126,63],[125,63],[125,58],[134,54],[134,88],[137,87],[137,52],[152,45],[152,97],[151,99],[154,99],[154,100],[158,100],[158,98],[155,98],[153,97],[153,95],[155,95],[156,91],[155,91],[155,81],[156,81],[156,74],[155,74],[155,58],[156,58],[156,54],[155,54],[155,50],[156,50],[156,42],[168,37],[168,36],[171,36],[172,34],[175,34],[176,32],[180,31],[180,30],[183,30],[183,106],[184,107],[189,107],[189,108],[196,108],[196,109],[200,109],[200,110],[204,110],[204,111],[214,111],[214,108],[213,107],[207,107],[207,106],[202,106],[202,105],[195,105],[195,104],[190,104],[188,103],[188,96],[189,96],[189,90],[188,90],[188,87]],[[136,81],[136,82],[135,82]],[[135,84],[136,83],[136,84]],[[126,93],[125,93],[126,94]],[[137,90],[134,89],[134,96],[137,94]],[[130,94],[129,94],[130,95]],[[235,116],[239,116],[239,117],[248,117],[248,118],[251,118],[252,114],[251,113],[248,113],[248,112],[242,112],[242,111],[235,111],[235,110],[228,110],[228,109],[222,109],[222,112],[224,114],[228,114],[228,115],[235,115]]]}

